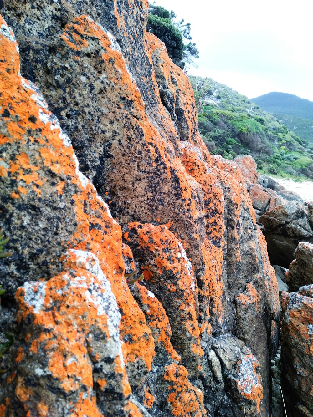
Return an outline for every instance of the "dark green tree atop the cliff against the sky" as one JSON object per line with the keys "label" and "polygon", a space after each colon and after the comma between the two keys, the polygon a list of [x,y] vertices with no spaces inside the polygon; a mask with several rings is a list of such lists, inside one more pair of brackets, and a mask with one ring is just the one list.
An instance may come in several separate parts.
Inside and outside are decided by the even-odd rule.
{"label": "dark green tree atop the cliff against the sky", "polygon": [[184,68],[185,61],[191,62],[192,57],[199,58],[199,51],[193,42],[184,43],[184,39],[191,40],[190,23],[184,19],[175,22],[176,15],[169,10],[152,5],[149,8],[147,30],[164,42],[167,53],[172,61],[180,68]]}

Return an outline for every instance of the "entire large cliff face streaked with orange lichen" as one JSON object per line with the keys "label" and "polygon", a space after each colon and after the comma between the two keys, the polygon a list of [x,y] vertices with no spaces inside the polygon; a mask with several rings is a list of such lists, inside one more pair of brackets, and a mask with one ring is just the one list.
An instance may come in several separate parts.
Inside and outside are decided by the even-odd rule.
{"label": "entire large cliff face streaked with orange lichen", "polygon": [[0,415],[269,416],[265,239],[146,2],[2,3]]}

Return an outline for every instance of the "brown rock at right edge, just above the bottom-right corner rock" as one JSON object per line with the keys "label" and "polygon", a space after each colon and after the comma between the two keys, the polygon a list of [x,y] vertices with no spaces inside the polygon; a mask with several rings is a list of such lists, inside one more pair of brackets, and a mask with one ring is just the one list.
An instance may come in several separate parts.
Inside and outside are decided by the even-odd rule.
{"label": "brown rock at right edge, just above the bottom-right corner rock", "polygon": [[300,286],[313,284],[313,244],[300,242],[294,257],[289,271],[285,273],[290,291],[298,291]]}

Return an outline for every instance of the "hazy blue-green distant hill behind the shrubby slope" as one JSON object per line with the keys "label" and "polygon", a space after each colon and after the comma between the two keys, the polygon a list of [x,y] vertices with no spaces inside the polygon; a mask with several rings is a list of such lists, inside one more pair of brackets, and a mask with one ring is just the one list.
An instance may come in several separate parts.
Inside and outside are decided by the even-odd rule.
{"label": "hazy blue-green distant hill behind the shrubby slope", "polygon": [[297,136],[313,143],[313,101],[294,94],[276,92],[250,100],[272,113]]}

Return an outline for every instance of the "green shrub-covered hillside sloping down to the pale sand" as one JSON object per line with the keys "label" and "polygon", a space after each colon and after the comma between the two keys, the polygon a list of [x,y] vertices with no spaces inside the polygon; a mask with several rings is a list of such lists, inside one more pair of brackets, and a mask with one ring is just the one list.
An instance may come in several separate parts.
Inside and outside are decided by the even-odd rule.
{"label": "green shrub-covered hillside sloping down to the pale sand", "polygon": [[210,91],[199,106],[198,121],[212,154],[227,159],[249,154],[263,173],[313,178],[313,146],[226,85],[213,82]]}

